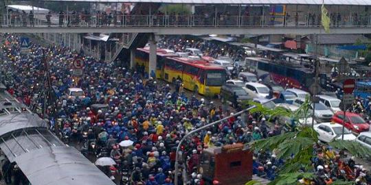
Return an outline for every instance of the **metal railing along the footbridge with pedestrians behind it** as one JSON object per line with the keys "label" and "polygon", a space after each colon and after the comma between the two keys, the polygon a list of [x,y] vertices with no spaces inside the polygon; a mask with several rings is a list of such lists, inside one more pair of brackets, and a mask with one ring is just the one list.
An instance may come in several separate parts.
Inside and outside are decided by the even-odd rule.
{"label": "metal railing along the footbridge with pedestrians behind it", "polygon": [[[371,16],[338,16],[331,27],[370,27]],[[0,14],[1,27],[319,27],[320,16]]]}

